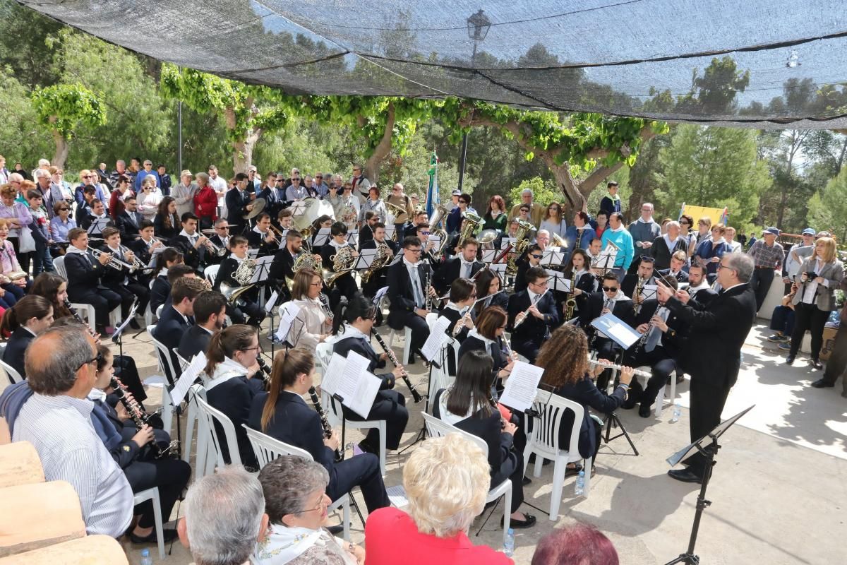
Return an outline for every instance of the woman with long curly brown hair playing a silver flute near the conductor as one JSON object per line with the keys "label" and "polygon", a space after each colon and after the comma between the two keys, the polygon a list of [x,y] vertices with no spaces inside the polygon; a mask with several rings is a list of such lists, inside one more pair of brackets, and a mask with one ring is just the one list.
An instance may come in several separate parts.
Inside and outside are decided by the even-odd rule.
{"label": "woman with long curly brown hair playing a silver flute near the conductor", "polygon": [[[597,460],[597,451],[600,450],[602,425],[591,418],[589,408],[599,413],[614,412],[626,400],[634,371],[632,368],[623,367],[620,384],[611,395],[607,395],[605,389],[595,385],[592,380],[603,368],[598,365],[590,372],[588,356],[588,341],[584,333],[576,326],[565,324],[553,332],[551,339],[541,348],[536,365],[544,368],[542,383],[554,387],[557,395],[583,405],[585,410],[579,424],[579,455],[584,458],[593,457],[593,467]],[[573,412],[566,411],[559,427],[560,449],[572,449],[572,427]],[[576,468],[573,471],[576,471]]]}

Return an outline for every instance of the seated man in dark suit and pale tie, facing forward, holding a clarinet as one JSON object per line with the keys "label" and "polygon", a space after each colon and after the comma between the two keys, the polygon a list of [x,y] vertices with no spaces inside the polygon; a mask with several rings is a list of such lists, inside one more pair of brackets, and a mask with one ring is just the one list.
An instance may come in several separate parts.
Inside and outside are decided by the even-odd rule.
{"label": "seated man in dark suit and pale tie, facing forward, holding a clarinet", "polygon": [[[409,348],[409,363],[414,363],[415,352],[424,346],[429,337],[426,323],[426,296],[435,298],[432,269],[420,261],[421,241],[414,236],[403,239],[402,257],[388,268],[388,326],[392,330],[412,330],[412,345]],[[404,359],[404,361],[406,361]]]}

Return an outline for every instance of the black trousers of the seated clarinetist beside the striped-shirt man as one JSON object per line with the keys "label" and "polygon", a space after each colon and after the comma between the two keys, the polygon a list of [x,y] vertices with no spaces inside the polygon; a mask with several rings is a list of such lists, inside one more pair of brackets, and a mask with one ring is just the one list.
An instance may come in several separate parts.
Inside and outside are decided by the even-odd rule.
{"label": "black trousers of the seated clarinetist beside the striped-shirt man", "polygon": [[[191,465],[181,459],[152,459],[134,461],[124,468],[126,480],[133,493],[158,486],[159,503],[162,506],[162,522],[170,519],[170,512],[191,478]],[[152,501],[144,501],[135,510],[141,514],[139,528],[151,528],[154,524]]]}

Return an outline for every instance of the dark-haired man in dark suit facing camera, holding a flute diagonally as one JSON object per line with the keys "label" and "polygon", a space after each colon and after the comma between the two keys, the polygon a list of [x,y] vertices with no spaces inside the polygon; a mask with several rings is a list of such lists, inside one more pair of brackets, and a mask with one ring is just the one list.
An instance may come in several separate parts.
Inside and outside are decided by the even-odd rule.
{"label": "dark-haired man in dark suit facing camera, holding a flute diagonally", "polygon": [[[547,272],[532,267],[526,273],[527,290],[509,298],[509,327],[512,328],[512,349],[529,363],[535,362],[541,344],[559,324],[556,298],[547,292]],[[523,321],[521,321],[523,320]],[[515,324],[520,322],[518,327]]]}

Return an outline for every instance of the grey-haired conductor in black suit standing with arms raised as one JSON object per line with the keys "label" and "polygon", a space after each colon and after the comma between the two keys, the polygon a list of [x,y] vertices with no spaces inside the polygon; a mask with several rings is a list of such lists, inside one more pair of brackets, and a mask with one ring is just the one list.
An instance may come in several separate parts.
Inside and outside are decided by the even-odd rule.
{"label": "grey-haired conductor in black suit standing with arms raised", "polygon": [[[723,405],[738,379],[741,346],[756,319],[756,296],[750,288],[755,263],[744,253],[721,258],[717,280],[722,291],[708,306],[690,301],[687,293],[659,285],[659,300],[670,312],[689,324],[689,340],[681,363],[691,375],[690,433],[699,440],[721,423]],[[686,459],[688,467],[667,472],[673,479],[699,483],[708,460],[701,453]]]}

